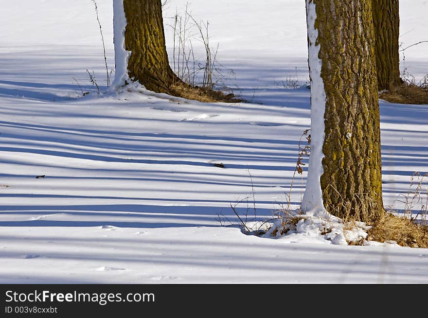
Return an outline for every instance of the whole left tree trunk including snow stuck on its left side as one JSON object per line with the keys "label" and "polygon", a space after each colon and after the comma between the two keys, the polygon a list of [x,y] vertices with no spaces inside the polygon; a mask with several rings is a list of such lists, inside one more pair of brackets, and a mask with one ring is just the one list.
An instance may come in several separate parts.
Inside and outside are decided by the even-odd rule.
{"label": "whole left tree trunk including snow stuck on its left side", "polygon": [[[113,5],[116,86],[138,81],[149,90],[173,95],[171,86],[182,82],[169,66],[161,0],[113,0]],[[124,67],[118,68],[121,64]]]}

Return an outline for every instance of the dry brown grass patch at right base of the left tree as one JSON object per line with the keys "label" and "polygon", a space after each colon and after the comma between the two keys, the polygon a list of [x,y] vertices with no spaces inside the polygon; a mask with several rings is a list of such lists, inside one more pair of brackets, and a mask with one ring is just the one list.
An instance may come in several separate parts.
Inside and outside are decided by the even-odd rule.
{"label": "dry brown grass patch at right base of the left tree", "polygon": [[243,99],[237,98],[232,92],[224,93],[220,90],[212,88],[201,88],[198,86],[190,86],[187,84],[173,85],[171,90],[175,93],[175,96],[179,96],[186,99],[192,99],[204,103],[241,103]]}

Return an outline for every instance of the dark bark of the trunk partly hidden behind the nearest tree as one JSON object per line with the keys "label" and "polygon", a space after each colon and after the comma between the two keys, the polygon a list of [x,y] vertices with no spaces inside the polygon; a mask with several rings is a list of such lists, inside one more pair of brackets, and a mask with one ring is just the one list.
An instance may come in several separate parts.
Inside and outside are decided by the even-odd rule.
{"label": "dark bark of the trunk partly hidden behind the nearest tree", "polygon": [[372,0],[379,90],[400,84],[398,0]]}

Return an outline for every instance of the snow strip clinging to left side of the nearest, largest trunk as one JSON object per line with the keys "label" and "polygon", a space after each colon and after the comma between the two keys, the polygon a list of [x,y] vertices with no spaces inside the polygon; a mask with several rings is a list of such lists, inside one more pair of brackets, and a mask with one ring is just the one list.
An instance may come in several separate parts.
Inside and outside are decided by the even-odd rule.
{"label": "snow strip clinging to left side of the nearest, largest trunk", "polygon": [[318,30],[315,29],[317,13],[314,0],[306,0],[309,69],[311,79],[311,155],[309,156],[308,177],[306,189],[303,194],[302,210],[306,214],[317,214],[325,212],[322,202],[321,175],[322,167],[322,145],[324,142],[324,112],[325,112],[325,90],[321,78],[321,59],[318,57],[320,45],[317,44]]}

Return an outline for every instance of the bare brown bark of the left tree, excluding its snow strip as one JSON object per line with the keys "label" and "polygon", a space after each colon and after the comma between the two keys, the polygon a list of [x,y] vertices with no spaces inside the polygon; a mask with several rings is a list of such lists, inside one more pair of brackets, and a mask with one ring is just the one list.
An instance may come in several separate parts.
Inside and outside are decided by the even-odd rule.
{"label": "bare brown bark of the left tree, excluding its snow strip", "polygon": [[124,0],[124,10],[125,49],[131,51],[129,78],[149,90],[172,95],[171,85],[181,81],[168,62],[161,0]]}

